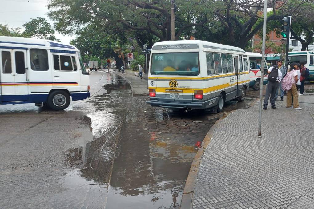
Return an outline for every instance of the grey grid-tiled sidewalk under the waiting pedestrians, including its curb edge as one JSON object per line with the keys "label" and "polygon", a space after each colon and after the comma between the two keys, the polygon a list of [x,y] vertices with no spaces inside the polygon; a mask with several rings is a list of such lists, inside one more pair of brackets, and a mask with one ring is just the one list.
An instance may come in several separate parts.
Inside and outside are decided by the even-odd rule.
{"label": "grey grid-tiled sidewalk under the waiting pedestrians, including its curb edge", "polygon": [[314,94],[299,101],[302,110],[278,101],[263,110],[261,138],[259,101],[218,121],[199,169],[192,163],[181,209],[314,208]]}

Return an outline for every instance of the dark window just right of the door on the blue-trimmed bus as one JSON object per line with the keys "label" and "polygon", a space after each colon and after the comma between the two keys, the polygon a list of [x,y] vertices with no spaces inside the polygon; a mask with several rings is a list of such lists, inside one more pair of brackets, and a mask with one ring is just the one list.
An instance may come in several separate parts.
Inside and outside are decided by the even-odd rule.
{"label": "dark window just right of the door on the blue-trimmed bus", "polygon": [[30,67],[33,71],[48,71],[48,53],[43,49],[30,49]]}

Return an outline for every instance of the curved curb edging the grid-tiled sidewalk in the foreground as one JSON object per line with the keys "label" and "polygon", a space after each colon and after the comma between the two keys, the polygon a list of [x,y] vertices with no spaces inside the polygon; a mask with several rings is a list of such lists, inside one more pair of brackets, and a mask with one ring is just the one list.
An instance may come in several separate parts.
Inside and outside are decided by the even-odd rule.
{"label": "curved curb edging the grid-tiled sidewalk in the foreground", "polygon": [[[253,107],[258,100],[259,100],[259,98],[255,99],[255,101],[252,102],[252,104],[250,105],[249,108]],[[207,148],[207,146],[210,142],[210,139],[212,138],[214,131],[217,128],[217,126],[219,125],[219,123],[223,119],[225,119],[230,113],[236,112],[236,111],[237,110],[232,110],[232,111],[228,112],[227,114],[223,115],[221,118],[219,118],[216,121],[216,123],[214,123],[214,125],[207,132],[207,134],[206,134],[206,136],[202,142],[201,147],[198,149],[198,152],[196,153],[196,155],[192,161],[192,165],[191,165],[189,174],[187,175],[187,181],[186,181],[185,186],[184,186],[183,195],[182,195],[181,204],[180,204],[180,209],[192,209],[194,188],[195,188],[195,185],[197,182],[199,165],[200,165],[201,159],[203,158],[204,151]]]}

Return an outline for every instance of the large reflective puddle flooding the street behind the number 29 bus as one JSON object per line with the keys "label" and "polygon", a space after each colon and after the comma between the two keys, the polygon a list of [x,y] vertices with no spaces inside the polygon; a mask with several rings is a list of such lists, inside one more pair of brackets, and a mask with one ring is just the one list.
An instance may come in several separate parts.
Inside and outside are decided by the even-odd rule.
{"label": "large reflective puddle flooding the street behind the number 29 bus", "polygon": [[[106,77],[107,76],[107,77]],[[178,208],[192,160],[211,126],[225,113],[255,100],[227,102],[224,112],[171,112],[150,107],[146,96],[132,97],[129,84],[106,74],[104,87],[73,110],[87,108],[81,120],[93,139],[68,149],[73,172],[106,185],[106,208]],[[102,85],[101,82],[98,85]],[[88,105],[86,104],[88,103]]]}

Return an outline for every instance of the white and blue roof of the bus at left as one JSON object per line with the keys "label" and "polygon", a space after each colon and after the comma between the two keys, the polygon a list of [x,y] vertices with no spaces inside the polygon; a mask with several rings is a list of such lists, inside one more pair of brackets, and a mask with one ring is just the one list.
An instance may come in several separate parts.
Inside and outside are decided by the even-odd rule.
{"label": "white and blue roof of the bus at left", "polygon": [[70,44],[62,44],[57,41],[10,36],[0,36],[0,46],[6,48],[11,47],[13,49],[37,48],[37,49],[78,51],[78,49],[75,46],[72,46]]}

